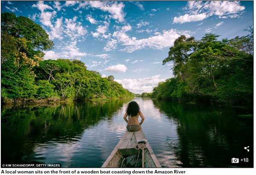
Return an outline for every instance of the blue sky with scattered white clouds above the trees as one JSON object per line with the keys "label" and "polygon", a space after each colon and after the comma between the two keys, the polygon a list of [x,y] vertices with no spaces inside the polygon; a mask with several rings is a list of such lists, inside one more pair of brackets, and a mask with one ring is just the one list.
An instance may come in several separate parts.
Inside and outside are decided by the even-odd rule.
{"label": "blue sky with scattered white clouds above the trees", "polygon": [[162,65],[177,37],[246,35],[253,1],[1,1],[1,12],[29,17],[55,46],[44,59],[79,59],[133,93],[174,77]]}

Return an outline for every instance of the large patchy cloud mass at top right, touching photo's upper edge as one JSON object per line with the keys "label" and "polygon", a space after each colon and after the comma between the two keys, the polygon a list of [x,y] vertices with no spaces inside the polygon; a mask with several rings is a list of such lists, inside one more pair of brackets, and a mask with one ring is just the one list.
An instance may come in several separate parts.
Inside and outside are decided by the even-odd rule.
{"label": "large patchy cloud mass at top right, touching photo's upper edge", "polygon": [[239,1],[189,1],[184,9],[189,14],[174,17],[173,23],[201,21],[213,15],[219,18],[236,18],[241,16],[245,7]]}

